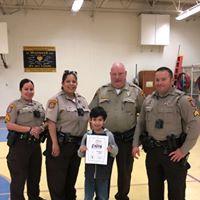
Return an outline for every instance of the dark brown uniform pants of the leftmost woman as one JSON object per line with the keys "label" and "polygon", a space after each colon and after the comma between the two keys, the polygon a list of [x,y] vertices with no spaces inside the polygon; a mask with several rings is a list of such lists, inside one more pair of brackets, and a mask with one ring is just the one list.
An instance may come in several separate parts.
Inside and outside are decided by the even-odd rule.
{"label": "dark brown uniform pants of the leftmost woman", "polygon": [[39,199],[42,154],[39,143],[28,143],[17,139],[10,147],[7,165],[10,171],[11,200],[25,200],[24,185],[27,181],[29,200]]}

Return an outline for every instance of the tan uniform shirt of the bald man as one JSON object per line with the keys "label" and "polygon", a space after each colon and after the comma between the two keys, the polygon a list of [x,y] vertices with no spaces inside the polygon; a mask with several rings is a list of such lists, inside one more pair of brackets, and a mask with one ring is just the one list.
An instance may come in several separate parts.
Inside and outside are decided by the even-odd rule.
{"label": "tan uniform shirt of the bald man", "polygon": [[120,93],[111,84],[99,88],[89,107],[103,107],[108,117],[105,127],[111,132],[125,132],[135,127],[137,113],[144,100],[142,90],[134,84],[126,83]]}

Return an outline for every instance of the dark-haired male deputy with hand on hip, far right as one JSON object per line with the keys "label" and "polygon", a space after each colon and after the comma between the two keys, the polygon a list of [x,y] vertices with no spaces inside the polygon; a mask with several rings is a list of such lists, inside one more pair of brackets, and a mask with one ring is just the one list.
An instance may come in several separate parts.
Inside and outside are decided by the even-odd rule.
{"label": "dark-haired male deputy with hand on hip, far right", "polygon": [[173,87],[173,73],[167,67],[157,69],[156,91],[149,95],[138,119],[132,154],[146,154],[149,199],[164,199],[164,180],[169,200],[185,200],[186,175],[190,167],[187,155],[195,145],[200,127],[199,111],[191,97]]}

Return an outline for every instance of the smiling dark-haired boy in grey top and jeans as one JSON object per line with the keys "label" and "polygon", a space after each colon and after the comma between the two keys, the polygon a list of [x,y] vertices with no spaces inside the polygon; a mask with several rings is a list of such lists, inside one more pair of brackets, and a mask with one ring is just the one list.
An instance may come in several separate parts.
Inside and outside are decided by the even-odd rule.
{"label": "smiling dark-haired boy in grey top and jeans", "polygon": [[88,135],[105,135],[108,136],[108,161],[107,165],[85,164],[85,200],[92,200],[94,192],[98,200],[108,200],[109,196],[109,179],[112,172],[112,163],[118,153],[118,147],[115,143],[113,134],[104,129],[104,122],[107,113],[102,107],[95,107],[90,112],[91,131],[88,131],[82,139],[81,146],[78,150],[80,157],[85,156],[87,151],[86,140]]}

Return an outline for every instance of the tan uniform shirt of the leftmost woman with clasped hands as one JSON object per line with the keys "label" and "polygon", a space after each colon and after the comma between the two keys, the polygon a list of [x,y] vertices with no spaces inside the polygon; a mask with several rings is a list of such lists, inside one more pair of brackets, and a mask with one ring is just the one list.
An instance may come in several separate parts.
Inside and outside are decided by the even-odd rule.
{"label": "tan uniform shirt of the leftmost woman with clasped hands", "polygon": [[[34,112],[37,112],[37,116]],[[41,103],[37,101],[27,102],[24,99],[13,101],[6,111],[6,122],[22,126],[40,126],[45,118],[45,111]]]}

